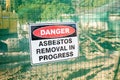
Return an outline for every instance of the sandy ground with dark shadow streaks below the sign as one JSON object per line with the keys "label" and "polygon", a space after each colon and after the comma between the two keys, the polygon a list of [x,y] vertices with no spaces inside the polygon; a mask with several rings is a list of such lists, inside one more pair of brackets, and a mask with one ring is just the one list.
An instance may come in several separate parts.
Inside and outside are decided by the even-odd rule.
{"label": "sandy ground with dark shadow streaks below the sign", "polygon": [[0,80],[114,80],[118,56],[95,53],[32,66],[29,53],[7,53],[0,56]]}

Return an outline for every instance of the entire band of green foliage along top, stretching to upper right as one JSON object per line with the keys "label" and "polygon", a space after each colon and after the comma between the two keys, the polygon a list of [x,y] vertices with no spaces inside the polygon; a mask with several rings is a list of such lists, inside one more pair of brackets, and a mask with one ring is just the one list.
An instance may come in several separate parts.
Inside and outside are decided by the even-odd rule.
{"label": "entire band of green foliage along top, stretching to upper right", "polygon": [[[100,7],[113,0],[11,0],[15,10],[24,21],[48,21],[61,19],[62,14],[75,14],[80,9]],[[5,4],[0,1],[2,6]],[[5,8],[5,7],[3,7]],[[74,20],[74,16],[71,17]],[[74,20],[76,21],[76,20]]]}

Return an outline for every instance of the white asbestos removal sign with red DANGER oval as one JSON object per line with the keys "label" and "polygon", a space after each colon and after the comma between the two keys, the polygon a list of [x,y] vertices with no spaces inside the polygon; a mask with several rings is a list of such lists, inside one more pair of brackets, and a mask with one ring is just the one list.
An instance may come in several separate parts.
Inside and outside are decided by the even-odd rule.
{"label": "white asbestos removal sign with red DANGER oval", "polygon": [[70,59],[78,56],[75,23],[30,25],[32,64]]}

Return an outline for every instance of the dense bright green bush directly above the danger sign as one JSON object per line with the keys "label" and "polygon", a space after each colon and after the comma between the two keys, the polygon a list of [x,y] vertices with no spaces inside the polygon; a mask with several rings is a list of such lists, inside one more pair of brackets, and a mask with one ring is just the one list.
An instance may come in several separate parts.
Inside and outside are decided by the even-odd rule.
{"label": "dense bright green bush directly above the danger sign", "polygon": [[72,0],[22,0],[20,3],[16,11],[19,18],[26,21],[57,19],[60,14],[73,14],[75,12],[71,6]]}

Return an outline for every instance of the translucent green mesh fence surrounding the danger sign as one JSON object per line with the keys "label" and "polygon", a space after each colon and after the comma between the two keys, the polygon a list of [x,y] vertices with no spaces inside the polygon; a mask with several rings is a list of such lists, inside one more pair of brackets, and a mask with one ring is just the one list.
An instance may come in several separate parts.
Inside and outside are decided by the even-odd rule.
{"label": "translucent green mesh fence surrounding the danger sign", "polygon": [[[0,0],[0,80],[119,80],[120,0]],[[29,23],[75,22],[79,56],[31,65]]]}

